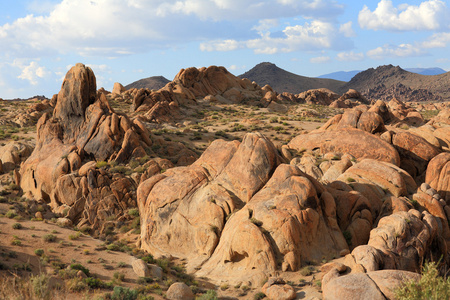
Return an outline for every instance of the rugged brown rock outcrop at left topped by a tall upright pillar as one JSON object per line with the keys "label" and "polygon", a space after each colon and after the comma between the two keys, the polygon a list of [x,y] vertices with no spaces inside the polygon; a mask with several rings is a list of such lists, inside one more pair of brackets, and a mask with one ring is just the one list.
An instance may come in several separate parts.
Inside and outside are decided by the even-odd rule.
{"label": "rugged brown rock outcrop at left topped by a tall upright pillar", "polygon": [[123,212],[137,206],[140,180],[107,173],[95,161],[137,160],[153,142],[140,120],[116,114],[95,89],[90,68],[77,64],[69,70],[53,116],[46,113],[37,124],[36,147],[21,167],[20,185],[25,195],[51,203],[54,211],[68,209],[74,224],[103,232],[111,225],[108,218],[126,218]]}

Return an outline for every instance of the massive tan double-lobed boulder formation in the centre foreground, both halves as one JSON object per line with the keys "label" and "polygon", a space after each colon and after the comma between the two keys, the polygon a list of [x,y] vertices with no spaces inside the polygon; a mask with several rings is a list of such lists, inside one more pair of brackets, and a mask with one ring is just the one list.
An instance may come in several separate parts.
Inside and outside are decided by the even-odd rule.
{"label": "massive tan double-lobed boulder formation in the centre foreground, both halves", "polygon": [[255,284],[278,262],[298,270],[337,256],[348,246],[333,197],[280,163],[270,141],[247,134],[242,143],[216,140],[193,165],[144,181],[137,191],[142,248],[187,258],[199,276]]}

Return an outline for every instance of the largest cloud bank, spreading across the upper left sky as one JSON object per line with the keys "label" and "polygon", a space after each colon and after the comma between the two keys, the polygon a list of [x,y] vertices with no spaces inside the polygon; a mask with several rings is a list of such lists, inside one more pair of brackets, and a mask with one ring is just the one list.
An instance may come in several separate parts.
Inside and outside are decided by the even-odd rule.
{"label": "largest cloud bank, spreading across the upper left sky", "polygon": [[[62,0],[43,15],[0,25],[0,52],[21,57],[59,53],[116,57],[183,42],[249,38],[258,20],[327,19],[343,12],[333,0]],[[312,5],[313,4],[313,5]],[[34,5],[35,6],[35,5]],[[38,9],[34,11],[38,13]],[[260,30],[270,21],[256,25]]]}

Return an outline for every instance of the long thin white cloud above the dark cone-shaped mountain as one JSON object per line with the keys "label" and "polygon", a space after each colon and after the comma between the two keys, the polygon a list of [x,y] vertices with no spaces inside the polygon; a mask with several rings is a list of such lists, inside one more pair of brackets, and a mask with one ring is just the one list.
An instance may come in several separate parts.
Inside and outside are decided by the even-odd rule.
{"label": "long thin white cloud above the dark cone-shaped mountain", "polygon": [[339,33],[330,22],[314,20],[303,25],[287,26],[280,36],[271,32],[246,41],[211,41],[200,46],[202,51],[230,51],[238,48],[253,49],[256,54],[289,53],[309,50],[344,50],[352,46],[351,40]]}

